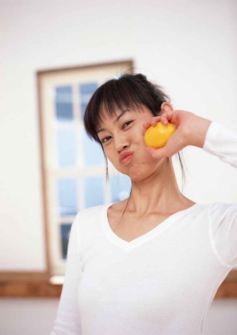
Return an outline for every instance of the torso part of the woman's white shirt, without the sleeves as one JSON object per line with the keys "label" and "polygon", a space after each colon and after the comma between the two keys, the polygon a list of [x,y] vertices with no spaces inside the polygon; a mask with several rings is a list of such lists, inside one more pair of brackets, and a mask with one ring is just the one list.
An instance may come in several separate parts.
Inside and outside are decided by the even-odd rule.
{"label": "torso part of the woman's white shirt, without the sleeves", "polygon": [[215,245],[212,206],[195,204],[131,242],[112,231],[108,206],[82,211],[78,223],[83,334],[199,334],[231,269]]}

